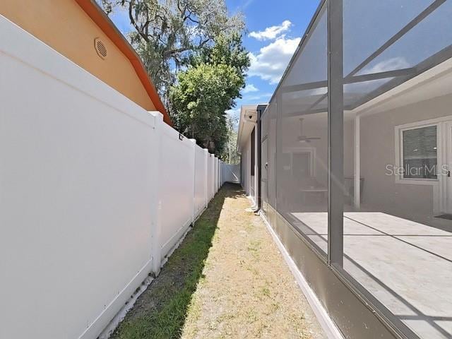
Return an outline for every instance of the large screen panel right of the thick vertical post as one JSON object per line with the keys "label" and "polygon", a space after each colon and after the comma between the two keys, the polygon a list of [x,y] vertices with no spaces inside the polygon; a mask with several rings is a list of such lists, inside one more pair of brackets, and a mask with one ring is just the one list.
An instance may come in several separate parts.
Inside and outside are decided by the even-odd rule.
{"label": "large screen panel right of the thick vertical post", "polygon": [[343,12],[343,269],[408,338],[451,338],[452,1]]}

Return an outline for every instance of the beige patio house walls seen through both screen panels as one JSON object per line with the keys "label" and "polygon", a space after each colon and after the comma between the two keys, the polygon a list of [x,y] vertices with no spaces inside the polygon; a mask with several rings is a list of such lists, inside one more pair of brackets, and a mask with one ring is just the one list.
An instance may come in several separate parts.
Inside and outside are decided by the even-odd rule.
{"label": "beige patio house walls seen through both screen panels", "polygon": [[[435,109],[431,109],[434,105]],[[361,174],[364,179],[362,189],[363,208],[378,208],[396,215],[412,215],[416,210],[420,215],[434,212],[434,184],[397,184],[394,176],[386,175],[386,165],[395,165],[395,127],[417,121],[425,121],[452,115],[452,95],[424,100],[416,104],[398,107],[386,112],[360,117]],[[326,116],[325,116],[326,119]],[[326,120],[325,120],[326,121]],[[309,135],[318,136],[309,147],[316,149],[314,177],[326,182],[328,154],[324,152],[327,143],[326,122],[322,119],[309,124]],[[294,146],[294,136],[299,134],[296,119],[281,121],[285,134],[282,136],[282,151],[296,153],[307,144]],[[352,178],[354,169],[354,120],[344,121],[344,175]],[[290,169],[287,169],[290,172]],[[290,174],[287,174],[290,175]],[[287,190],[284,194],[287,194]]]}

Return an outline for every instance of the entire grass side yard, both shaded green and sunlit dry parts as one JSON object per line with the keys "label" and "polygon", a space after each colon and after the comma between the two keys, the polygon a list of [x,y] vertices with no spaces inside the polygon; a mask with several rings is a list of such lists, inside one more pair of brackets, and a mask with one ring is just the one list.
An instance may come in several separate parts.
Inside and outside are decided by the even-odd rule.
{"label": "entire grass side yard, both shaded green and sunlit dry parts", "polygon": [[326,338],[262,220],[225,186],[112,338]]}

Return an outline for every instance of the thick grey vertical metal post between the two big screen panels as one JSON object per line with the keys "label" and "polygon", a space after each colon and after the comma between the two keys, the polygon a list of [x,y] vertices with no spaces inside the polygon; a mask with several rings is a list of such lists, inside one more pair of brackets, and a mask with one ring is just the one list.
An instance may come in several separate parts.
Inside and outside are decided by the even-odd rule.
{"label": "thick grey vertical metal post between the two big screen panels", "polygon": [[328,263],[343,267],[343,0],[328,1]]}

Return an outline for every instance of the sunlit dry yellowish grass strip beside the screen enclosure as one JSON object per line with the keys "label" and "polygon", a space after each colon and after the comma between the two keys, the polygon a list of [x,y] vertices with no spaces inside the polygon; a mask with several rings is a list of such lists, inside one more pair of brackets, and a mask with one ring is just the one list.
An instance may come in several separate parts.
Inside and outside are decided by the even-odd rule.
{"label": "sunlit dry yellowish grass strip beside the screen enclosure", "polygon": [[225,198],[182,338],[325,338],[261,218],[247,208],[242,191]]}

